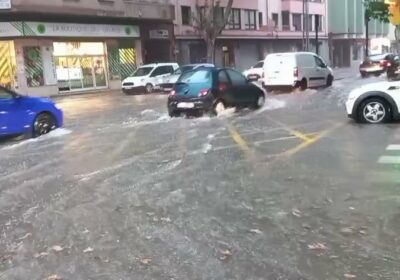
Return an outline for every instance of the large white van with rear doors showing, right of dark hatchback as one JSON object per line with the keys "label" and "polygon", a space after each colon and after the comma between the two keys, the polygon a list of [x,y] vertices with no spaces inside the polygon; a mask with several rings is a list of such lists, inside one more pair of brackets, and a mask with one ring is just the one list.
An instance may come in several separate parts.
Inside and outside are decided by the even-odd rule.
{"label": "large white van with rear doors showing, right of dark hatchback", "polygon": [[306,88],[331,86],[333,72],[324,60],[310,52],[274,53],[264,60],[264,86]]}

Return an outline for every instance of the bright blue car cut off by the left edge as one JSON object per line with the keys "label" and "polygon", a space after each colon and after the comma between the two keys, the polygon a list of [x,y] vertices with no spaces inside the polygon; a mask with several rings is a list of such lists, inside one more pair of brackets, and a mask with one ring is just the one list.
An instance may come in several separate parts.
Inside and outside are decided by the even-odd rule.
{"label": "bright blue car cut off by the left edge", "polygon": [[23,96],[0,86],[0,137],[38,137],[62,125],[63,112],[52,100]]}

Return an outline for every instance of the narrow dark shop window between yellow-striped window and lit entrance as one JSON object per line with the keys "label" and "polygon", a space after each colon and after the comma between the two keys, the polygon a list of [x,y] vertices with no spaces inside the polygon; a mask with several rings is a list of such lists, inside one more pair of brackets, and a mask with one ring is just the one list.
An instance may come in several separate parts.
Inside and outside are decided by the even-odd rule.
{"label": "narrow dark shop window between yellow-striped window and lit entrance", "polygon": [[43,57],[40,47],[24,47],[23,52],[28,87],[43,86]]}

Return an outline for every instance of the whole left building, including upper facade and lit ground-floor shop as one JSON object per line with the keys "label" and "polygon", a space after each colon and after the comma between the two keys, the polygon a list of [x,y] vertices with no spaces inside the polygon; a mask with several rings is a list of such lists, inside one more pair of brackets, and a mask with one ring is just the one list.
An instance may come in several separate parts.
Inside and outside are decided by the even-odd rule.
{"label": "whole left building, including upper facade and lit ground-floor shop", "polygon": [[118,89],[173,59],[167,0],[2,0],[0,83],[30,95]]}

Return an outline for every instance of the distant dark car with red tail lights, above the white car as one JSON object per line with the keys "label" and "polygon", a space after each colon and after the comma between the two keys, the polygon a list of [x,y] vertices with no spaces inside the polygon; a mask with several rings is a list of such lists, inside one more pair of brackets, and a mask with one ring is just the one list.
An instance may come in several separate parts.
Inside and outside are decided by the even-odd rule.
{"label": "distant dark car with red tail lights, above the white car", "polygon": [[392,53],[384,53],[370,55],[360,64],[360,74],[362,78],[370,75],[379,77],[391,67],[395,55]]}

